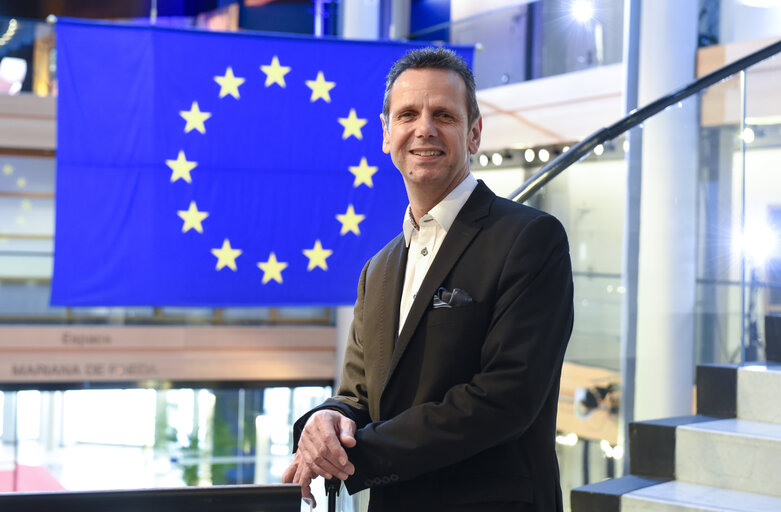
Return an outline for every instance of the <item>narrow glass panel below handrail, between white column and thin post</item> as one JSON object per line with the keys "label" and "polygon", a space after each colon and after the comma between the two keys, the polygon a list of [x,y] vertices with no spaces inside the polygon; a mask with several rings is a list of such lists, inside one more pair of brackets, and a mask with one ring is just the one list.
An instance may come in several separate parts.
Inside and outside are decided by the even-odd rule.
{"label": "narrow glass panel below handrail, between white column and thin post", "polygon": [[741,80],[700,93],[696,362],[742,359]]}

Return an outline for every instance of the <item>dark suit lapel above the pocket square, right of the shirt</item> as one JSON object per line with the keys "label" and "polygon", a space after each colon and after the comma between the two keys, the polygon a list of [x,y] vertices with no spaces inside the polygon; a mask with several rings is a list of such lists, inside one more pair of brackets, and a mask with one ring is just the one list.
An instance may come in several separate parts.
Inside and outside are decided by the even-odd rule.
{"label": "dark suit lapel above the pocket square, right of the shirt", "polygon": [[[417,298],[412,302],[412,307],[407,315],[407,320],[396,340],[388,374],[385,377],[383,392],[390,381],[390,377],[396,370],[407,345],[409,345],[420,320],[423,318],[423,314],[431,304],[434,293],[441,286],[445,277],[447,277],[453,266],[461,257],[461,254],[469,246],[469,243],[480,231],[480,228],[482,227],[481,219],[488,215],[491,202],[493,202],[495,197],[494,193],[480,181],[477,188],[475,188],[472,195],[469,196],[466,204],[464,204],[464,207],[461,208],[458,216],[453,221],[453,225],[450,226],[450,230],[445,236],[445,240],[443,240],[436,258],[432,262],[431,267],[426,273],[426,277],[420,285],[420,289],[417,292]],[[403,283],[404,270],[404,268],[401,269],[401,283]],[[395,325],[397,326],[396,330],[398,331],[398,312],[399,303],[401,302],[401,290],[399,290],[398,297],[395,297],[395,300],[397,319]]]}

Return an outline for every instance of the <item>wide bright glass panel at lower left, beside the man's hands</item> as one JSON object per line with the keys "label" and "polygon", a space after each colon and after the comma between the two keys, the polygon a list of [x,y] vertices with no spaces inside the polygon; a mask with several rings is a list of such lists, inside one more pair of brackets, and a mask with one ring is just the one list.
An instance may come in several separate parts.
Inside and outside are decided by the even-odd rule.
{"label": "wide bright glass panel at lower left, beside the man's hands", "polygon": [[281,483],[293,421],[330,395],[330,386],[2,393],[0,471],[18,467],[22,478],[0,491]]}

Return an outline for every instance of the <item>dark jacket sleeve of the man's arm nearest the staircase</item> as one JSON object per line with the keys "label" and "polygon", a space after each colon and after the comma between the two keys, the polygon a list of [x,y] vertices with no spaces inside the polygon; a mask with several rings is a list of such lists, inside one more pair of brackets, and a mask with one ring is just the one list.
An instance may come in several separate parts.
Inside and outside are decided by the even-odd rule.
{"label": "dark jacket sleeve of the man's arm nearest the staircase", "polygon": [[[412,479],[517,438],[555,393],[573,321],[564,228],[549,215],[532,219],[501,261],[479,372],[450,388],[439,402],[413,406],[358,430],[357,445],[348,450],[356,467],[347,481],[351,493],[383,480]],[[359,308],[356,317],[361,318]],[[353,334],[351,358],[359,359],[360,347]],[[345,375],[348,400],[361,403],[360,370],[348,362]]]}

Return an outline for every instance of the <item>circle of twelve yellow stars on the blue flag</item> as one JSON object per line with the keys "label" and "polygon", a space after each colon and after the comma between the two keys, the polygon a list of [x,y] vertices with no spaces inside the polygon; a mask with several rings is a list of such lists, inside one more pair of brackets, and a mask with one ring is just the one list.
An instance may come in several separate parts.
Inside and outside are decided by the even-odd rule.
{"label": "circle of twelve yellow stars on the blue flag", "polygon": [[[285,77],[290,73],[291,67],[283,66],[280,63],[279,57],[274,55],[269,64],[260,66],[260,71],[265,75],[265,87],[277,86],[284,89],[287,86]],[[239,87],[241,87],[246,80],[247,79],[244,77],[237,77],[234,74],[233,68],[227,66],[223,75],[214,76],[214,81],[219,85],[219,98],[224,99],[230,96],[235,100],[239,100],[241,98]],[[319,100],[326,103],[331,102],[331,90],[336,87],[336,82],[326,80],[323,71],[318,71],[317,76],[313,80],[305,80],[305,83],[311,90],[311,95],[309,97],[310,103],[315,103]],[[206,134],[206,123],[212,117],[211,112],[201,111],[197,101],[192,102],[189,110],[180,110],[179,115],[185,121],[185,134],[195,131],[201,135]],[[361,129],[366,125],[367,119],[359,118],[354,108],[350,109],[346,117],[339,117],[336,121],[343,128],[342,140],[347,140],[350,137],[363,140]],[[179,151],[175,159],[167,159],[165,164],[171,170],[171,183],[182,180],[185,183],[192,184],[193,177],[191,173],[198,167],[198,162],[188,160],[187,155],[183,150]],[[377,170],[377,166],[369,165],[366,157],[361,157],[361,160],[357,165],[349,166],[348,168],[348,171],[354,176],[353,188],[358,188],[360,186],[373,188],[374,182],[372,181],[372,177]],[[209,217],[209,212],[199,210],[195,201],[190,201],[186,210],[178,210],[176,213],[183,221],[182,233],[194,231],[203,234],[203,223]],[[339,231],[340,236],[345,236],[348,233],[360,236],[360,223],[366,219],[366,215],[356,213],[355,206],[349,204],[346,211],[344,213],[336,214],[335,218],[341,224],[341,229]],[[333,254],[333,250],[323,247],[320,239],[315,240],[311,248],[303,249],[301,252],[308,259],[308,272],[315,269],[328,271],[327,260]],[[211,253],[217,258],[217,263],[215,265],[216,271],[220,271],[227,267],[235,272],[238,269],[236,260],[242,255],[243,251],[232,247],[230,240],[225,238],[223,239],[222,246],[219,248],[212,248]],[[280,261],[277,254],[274,251],[270,251],[268,259],[266,261],[257,262],[256,266],[263,272],[261,281],[263,285],[266,285],[271,281],[282,284],[284,281],[282,272],[290,266],[290,263],[287,261]]]}

